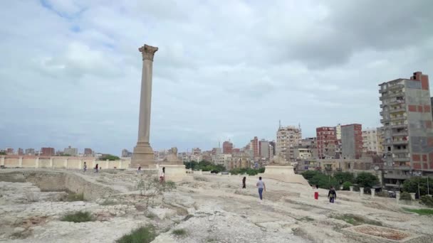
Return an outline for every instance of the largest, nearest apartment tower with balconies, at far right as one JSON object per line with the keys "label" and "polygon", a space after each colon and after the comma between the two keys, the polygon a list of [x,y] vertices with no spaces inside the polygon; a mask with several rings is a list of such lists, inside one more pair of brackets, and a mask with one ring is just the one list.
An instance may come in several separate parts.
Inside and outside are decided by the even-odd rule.
{"label": "largest, nearest apartment tower with balconies, at far right", "polygon": [[410,79],[379,85],[380,122],[384,129],[385,185],[400,185],[411,175],[433,170],[432,101],[429,77],[414,72]]}

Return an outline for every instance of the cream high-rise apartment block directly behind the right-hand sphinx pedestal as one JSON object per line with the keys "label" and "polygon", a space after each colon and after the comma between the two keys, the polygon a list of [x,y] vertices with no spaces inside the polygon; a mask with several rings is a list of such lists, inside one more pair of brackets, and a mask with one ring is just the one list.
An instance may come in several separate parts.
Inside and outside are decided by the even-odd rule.
{"label": "cream high-rise apartment block directly behind the right-hand sphinx pedestal", "polygon": [[276,153],[286,161],[295,161],[293,148],[301,144],[302,131],[296,126],[280,126],[276,132]]}

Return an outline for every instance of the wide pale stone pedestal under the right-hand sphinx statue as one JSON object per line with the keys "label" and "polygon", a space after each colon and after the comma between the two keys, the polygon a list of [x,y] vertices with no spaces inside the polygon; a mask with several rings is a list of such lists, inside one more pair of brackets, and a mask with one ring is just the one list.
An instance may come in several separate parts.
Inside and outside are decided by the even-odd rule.
{"label": "wide pale stone pedestal under the right-hand sphinx statue", "polygon": [[293,166],[265,166],[265,173],[259,174],[262,178],[281,180],[286,183],[298,183],[307,185],[308,181],[302,175],[296,175]]}

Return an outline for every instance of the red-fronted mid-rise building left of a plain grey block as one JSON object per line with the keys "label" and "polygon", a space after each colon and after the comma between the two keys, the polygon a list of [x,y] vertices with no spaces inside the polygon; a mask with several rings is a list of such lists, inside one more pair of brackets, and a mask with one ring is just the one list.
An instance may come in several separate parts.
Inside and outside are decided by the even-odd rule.
{"label": "red-fronted mid-rise building left of a plain grey block", "polygon": [[335,158],[338,145],[335,126],[320,126],[315,129],[318,158]]}

